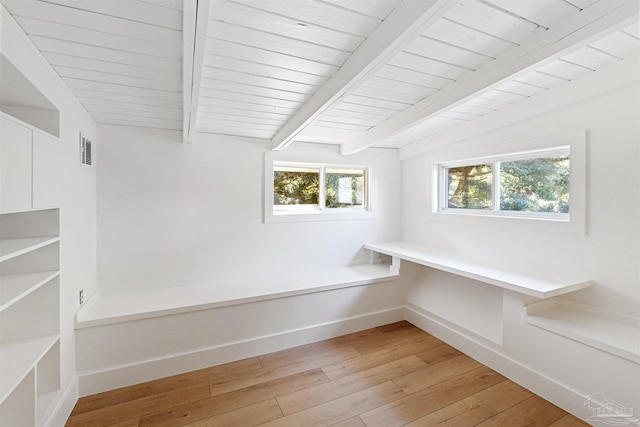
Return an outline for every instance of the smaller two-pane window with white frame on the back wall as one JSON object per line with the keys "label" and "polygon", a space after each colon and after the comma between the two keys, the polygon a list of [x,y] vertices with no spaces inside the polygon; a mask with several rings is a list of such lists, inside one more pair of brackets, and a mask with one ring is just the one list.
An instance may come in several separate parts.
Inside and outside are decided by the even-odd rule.
{"label": "smaller two-pane window with white frame on the back wall", "polygon": [[266,222],[370,217],[369,167],[273,161],[268,169]]}

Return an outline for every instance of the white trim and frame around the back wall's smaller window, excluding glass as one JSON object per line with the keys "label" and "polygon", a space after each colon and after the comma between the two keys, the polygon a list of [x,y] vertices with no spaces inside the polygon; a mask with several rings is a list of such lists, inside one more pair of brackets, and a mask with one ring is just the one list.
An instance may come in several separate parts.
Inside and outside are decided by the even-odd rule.
{"label": "white trim and frame around the back wall's smaller window, excluding glass", "polygon": [[[264,166],[264,222],[265,223],[279,223],[279,222],[303,222],[303,221],[331,221],[331,220],[362,220],[362,219],[374,219],[373,209],[373,179],[372,168],[370,166],[363,166],[353,163],[336,163],[336,162],[309,162],[309,161],[295,161],[291,159],[279,160],[274,153],[265,154],[265,166]],[[300,156],[296,156],[300,157]],[[320,205],[315,205],[316,208],[301,207],[301,206],[288,206],[280,207],[274,210],[273,204],[273,170],[274,165],[286,165],[291,167],[310,167],[320,168],[320,182],[324,183],[324,170],[325,169],[362,169],[366,170],[366,183],[365,183],[365,206],[364,207],[347,207],[347,208],[323,208]],[[324,200],[324,185],[320,186],[319,200]]]}

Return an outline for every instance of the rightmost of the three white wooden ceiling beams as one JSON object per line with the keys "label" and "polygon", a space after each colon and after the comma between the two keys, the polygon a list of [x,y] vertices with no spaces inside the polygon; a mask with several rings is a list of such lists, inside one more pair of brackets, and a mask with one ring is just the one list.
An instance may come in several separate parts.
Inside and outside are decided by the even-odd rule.
{"label": "rightmost of the three white wooden ceiling beams", "polygon": [[488,92],[519,74],[558,59],[628,25],[630,19],[637,19],[638,4],[637,0],[601,1],[556,23],[553,28],[532,36],[521,45],[501,54],[495,61],[464,75],[455,83],[370,129],[356,141],[342,144],[341,153],[348,155],[371,147],[383,139],[397,135],[415,124]]}

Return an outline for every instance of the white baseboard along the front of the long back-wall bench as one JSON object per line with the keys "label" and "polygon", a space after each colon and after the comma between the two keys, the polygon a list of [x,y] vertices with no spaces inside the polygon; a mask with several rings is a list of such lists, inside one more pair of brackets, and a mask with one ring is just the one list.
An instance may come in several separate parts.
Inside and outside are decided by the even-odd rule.
{"label": "white baseboard along the front of the long back-wall bench", "polygon": [[396,307],[299,329],[278,331],[251,340],[224,344],[157,360],[143,361],[134,365],[91,372],[80,375],[78,380],[79,395],[88,396],[119,387],[309,344],[401,320],[405,320],[405,308]]}

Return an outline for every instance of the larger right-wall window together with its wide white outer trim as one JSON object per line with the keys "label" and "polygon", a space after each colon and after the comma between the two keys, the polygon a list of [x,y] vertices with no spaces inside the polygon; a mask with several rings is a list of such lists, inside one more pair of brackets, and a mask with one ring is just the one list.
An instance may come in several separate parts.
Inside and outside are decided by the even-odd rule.
{"label": "larger right-wall window together with its wide white outer trim", "polygon": [[587,135],[502,144],[485,135],[428,156],[427,219],[584,235]]}

